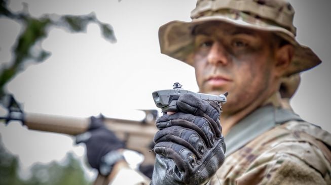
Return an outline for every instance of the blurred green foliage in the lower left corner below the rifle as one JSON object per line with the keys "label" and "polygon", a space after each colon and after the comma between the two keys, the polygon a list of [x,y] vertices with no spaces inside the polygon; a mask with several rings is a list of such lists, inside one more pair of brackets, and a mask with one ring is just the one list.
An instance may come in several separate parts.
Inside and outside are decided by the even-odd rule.
{"label": "blurred green foliage in the lower left corner below the rifle", "polygon": [[88,185],[92,184],[84,176],[80,161],[68,153],[64,163],[34,164],[31,176],[22,179],[18,158],[7,152],[0,140],[0,185]]}

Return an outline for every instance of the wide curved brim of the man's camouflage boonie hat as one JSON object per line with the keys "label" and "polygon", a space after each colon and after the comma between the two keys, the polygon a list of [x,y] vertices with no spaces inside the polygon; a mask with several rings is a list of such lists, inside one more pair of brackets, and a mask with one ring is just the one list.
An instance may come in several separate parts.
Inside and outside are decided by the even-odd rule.
{"label": "wide curved brim of the man's camouflage boonie hat", "polygon": [[159,29],[161,53],[193,66],[194,36],[192,31],[195,26],[211,21],[227,22],[245,28],[274,32],[291,43],[295,48],[295,54],[283,76],[308,70],[321,63],[321,60],[310,48],[301,45],[295,39],[295,35],[282,27],[259,22],[259,20],[251,24],[239,18],[231,19],[224,16],[202,17],[191,22],[172,21],[161,26]]}

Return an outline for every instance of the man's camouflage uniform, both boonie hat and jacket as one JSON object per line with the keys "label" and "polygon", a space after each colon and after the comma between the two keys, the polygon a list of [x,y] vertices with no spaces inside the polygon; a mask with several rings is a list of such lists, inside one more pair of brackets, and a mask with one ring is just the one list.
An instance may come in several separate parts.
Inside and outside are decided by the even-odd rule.
{"label": "man's camouflage uniform, both boonie hat and jacket", "polygon": [[[283,77],[295,75],[321,61],[296,40],[294,14],[284,0],[198,0],[191,22],[160,27],[161,53],[194,66],[194,28],[220,21],[269,31],[291,44],[295,51]],[[208,184],[331,184],[331,134],[303,121],[284,98],[276,92],[231,128],[225,162]]]}

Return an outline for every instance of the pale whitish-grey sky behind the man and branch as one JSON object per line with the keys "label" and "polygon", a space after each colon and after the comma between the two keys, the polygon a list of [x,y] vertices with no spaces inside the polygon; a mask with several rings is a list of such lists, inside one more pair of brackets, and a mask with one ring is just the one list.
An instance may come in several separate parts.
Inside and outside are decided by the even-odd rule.
{"label": "pale whitish-grey sky behind the man and branch", "polygon": [[[103,39],[97,25],[86,33],[51,29],[41,47],[51,52],[43,63],[30,65],[7,85],[26,112],[63,116],[131,119],[137,109],[156,109],[152,92],[172,88],[198,91],[194,69],[160,54],[158,28],[172,20],[190,21],[192,0],[104,0],[104,1],[22,1],[10,2],[13,11],[28,10],[34,17],[48,14],[85,15],[97,18],[115,30],[116,43]],[[296,10],[297,39],[308,45],[323,61],[302,73],[301,85],[291,105],[305,120],[331,132],[331,13],[328,0],[292,0]],[[20,25],[0,18],[0,62],[10,62],[11,48]],[[18,123],[0,124],[6,148],[20,159],[24,169],[36,162],[62,160],[69,151],[85,159],[83,145],[64,134],[27,130]],[[28,171],[28,170],[27,170]]]}

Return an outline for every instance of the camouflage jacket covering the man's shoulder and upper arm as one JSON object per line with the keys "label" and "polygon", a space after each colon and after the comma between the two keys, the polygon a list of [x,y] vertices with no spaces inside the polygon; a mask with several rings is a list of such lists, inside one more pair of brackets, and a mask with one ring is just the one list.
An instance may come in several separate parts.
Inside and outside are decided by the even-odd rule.
{"label": "camouflage jacket covering the man's shoulder and upper arm", "polygon": [[[284,102],[269,103],[236,124],[244,122],[245,128],[237,129],[236,137],[229,135],[232,128],[226,160],[208,184],[331,184],[331,134],[301,120]],[[261,123],[274,126],[264,131],[256,127]],[[254,126],[262,133],[246,140]],[[247,143],[236,148],[236,138]]]}

